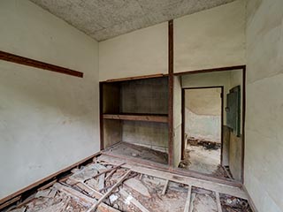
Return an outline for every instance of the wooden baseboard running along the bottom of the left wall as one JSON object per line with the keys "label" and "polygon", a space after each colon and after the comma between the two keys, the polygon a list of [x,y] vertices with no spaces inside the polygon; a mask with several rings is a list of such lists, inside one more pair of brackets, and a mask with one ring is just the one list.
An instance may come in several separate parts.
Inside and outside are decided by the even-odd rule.
{"label": "wooden baseboard running along the bottom of the left wall", "polygon": [[90,155],[90,156],[80,160],[79,162],[74,163],[73,165],[66,167],[63,170],[59,170],[59,171],[51,174],[50,176],[48,176],[46,178],[42,178],[41,180],[36,181],[34,184],[31,184],[27,187],[20,189],[18,192],[11,193],[10,195],[8,195],[8,196],[6,196],[6,197],[4,197],[3,199],[0,200],[0,209],[6,208],[9,205],[11,205],[12,203],[14,203],[15,201],[13,201],[13,200],[24,201],[25,198],[27,198],[32,193],[35,193],[42,186],[50,184],[50,182],[52,182],[52,181],[56,182],[56,179],[64,178],[67,174],[69,174],[71,172],[71,170],[73,170],[76,167],[80,167],[83,164],[90,163],[90,161],[92,161],[92,159],[94,157],[98,156],[98,155],[101,155],[101,152],[98,152],[94,155]]}

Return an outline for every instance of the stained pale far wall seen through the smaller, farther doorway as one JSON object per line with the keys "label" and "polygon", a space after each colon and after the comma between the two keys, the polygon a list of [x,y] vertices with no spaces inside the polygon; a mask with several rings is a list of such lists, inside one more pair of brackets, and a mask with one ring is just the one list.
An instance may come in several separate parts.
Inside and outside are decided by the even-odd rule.
{"label": "stained pale far wall seen through the smaller, farther doorway", "polygon": [[185,133],[221,142],[221,88],[185,90]]}

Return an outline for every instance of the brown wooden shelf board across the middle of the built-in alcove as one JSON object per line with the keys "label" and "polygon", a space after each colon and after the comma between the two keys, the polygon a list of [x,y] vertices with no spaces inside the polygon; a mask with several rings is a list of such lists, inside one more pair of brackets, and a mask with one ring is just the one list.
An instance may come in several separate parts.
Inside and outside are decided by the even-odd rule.
{"label": "brown wooden shelf board across the middle of the built-in alcove", "polygon": [[168,116],[167,115],[103,114],[103,118],[104,119],[168,123]]}

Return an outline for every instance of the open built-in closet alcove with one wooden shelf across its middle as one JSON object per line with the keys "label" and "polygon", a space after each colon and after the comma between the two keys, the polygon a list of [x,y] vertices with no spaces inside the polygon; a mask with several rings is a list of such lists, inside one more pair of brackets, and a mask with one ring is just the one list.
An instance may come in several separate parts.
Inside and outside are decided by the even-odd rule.
{"label": "open built-in closet alcove with one wooden shelf across its middle", "polygon": [[[168,78],[102,82],[101,96],[103,148],[123,143],[129,144],[128,150],[139,148],[141,154],[142,148],[149,148],[164,158],[156,162],[167,163]],[[134,150],[132,155],[139,157]]]}

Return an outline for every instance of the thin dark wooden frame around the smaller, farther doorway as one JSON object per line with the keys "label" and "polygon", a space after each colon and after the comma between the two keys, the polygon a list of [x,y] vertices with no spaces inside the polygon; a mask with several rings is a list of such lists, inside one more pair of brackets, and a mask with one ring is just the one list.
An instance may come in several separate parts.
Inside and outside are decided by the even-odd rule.
{"label": "thin dark wooden frame around the smaller, farther doorway", "polygon": [[223,128],[224,128],[224,86],[215,86],[215,87],[182,87],[182,99],[181,99],[181,114],[182,114],[182,123],[181,123],[181,131],[182,131],[182,137],[181,137],[181,159],[184,159],[184,152],[185,152],[185,117],[186,117],[186,111],[185,111],[185,92],[186,90],[193,90],[193,89],[210,89],[210,88],[221,88],[221,127],[220,127],[220,140],[221,140],[221,153],[220,153],[220,164],[222,165],[223,161]]}

